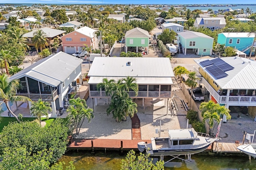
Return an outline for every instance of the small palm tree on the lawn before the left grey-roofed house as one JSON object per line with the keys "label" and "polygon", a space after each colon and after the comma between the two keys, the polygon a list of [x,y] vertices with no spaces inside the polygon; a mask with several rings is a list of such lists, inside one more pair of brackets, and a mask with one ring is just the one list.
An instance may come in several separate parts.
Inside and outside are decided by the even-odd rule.
{"label": "small palm tree on the lawn before the left grey-roofed house", "polygon": [[52,111],[50,104],[48,102],[39,99],[38,102],[33,102],[30,107],[31,115],[37,117],[41,125],[41,116],[45,115],[48,119],[48,111]]}

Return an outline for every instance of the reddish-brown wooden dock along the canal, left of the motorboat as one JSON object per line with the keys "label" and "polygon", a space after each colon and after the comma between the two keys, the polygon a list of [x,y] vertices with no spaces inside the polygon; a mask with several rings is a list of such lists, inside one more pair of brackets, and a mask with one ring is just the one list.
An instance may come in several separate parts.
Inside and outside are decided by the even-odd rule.
{"label": "reddish-brown wooden dock along the canal, left of the motorboat", "polygon": [[110,150],[134,149],[134,150],[138,150],[138,143],[142,141],[151,143],[150,139],[148,140],[72,139],[71,143],[67,146],[67,148],[68,149],[110,149]]}

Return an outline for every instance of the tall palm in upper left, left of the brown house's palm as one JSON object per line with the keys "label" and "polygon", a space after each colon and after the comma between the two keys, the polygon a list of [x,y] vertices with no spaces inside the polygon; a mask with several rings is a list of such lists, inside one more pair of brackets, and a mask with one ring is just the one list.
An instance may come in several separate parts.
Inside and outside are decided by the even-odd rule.
{"label": "tall palm in upper left, left of the brown house's palm", "polygon": [[14,43],[20,44],[26,51],[30,49],[30,47],[26,44],[28,43],[28,38],[23,37],[24,32],[21,28],[10,27],[7,32],[10,35],[10,39],[14,40]]}

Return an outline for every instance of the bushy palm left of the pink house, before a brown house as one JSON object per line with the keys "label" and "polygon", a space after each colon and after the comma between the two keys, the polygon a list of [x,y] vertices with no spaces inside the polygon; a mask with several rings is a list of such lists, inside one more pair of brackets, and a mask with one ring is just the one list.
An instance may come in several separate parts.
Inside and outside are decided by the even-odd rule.
{"label": "bushy palm left of the pink house, before a brown house", "polygon": [[40,51],[42,51],[43,48],[45,48],[47,43],[46,33],[42,31],[42,29],[38,29],[33,33],[33,41],[35,43],[36,51],[38,52],[38,49],[40,48]]}

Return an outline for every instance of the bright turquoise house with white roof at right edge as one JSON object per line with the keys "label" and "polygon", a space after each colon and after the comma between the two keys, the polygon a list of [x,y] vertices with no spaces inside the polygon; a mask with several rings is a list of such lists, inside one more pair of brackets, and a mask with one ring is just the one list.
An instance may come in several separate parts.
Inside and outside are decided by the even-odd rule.
{"label": "bright turquoise house with white roof at right edge", "polygon": [[218,44],[233,47],[250,55],[252,45],[254,48],[256,47],[254,38],[254,33],[220,33],[218,34]]}

